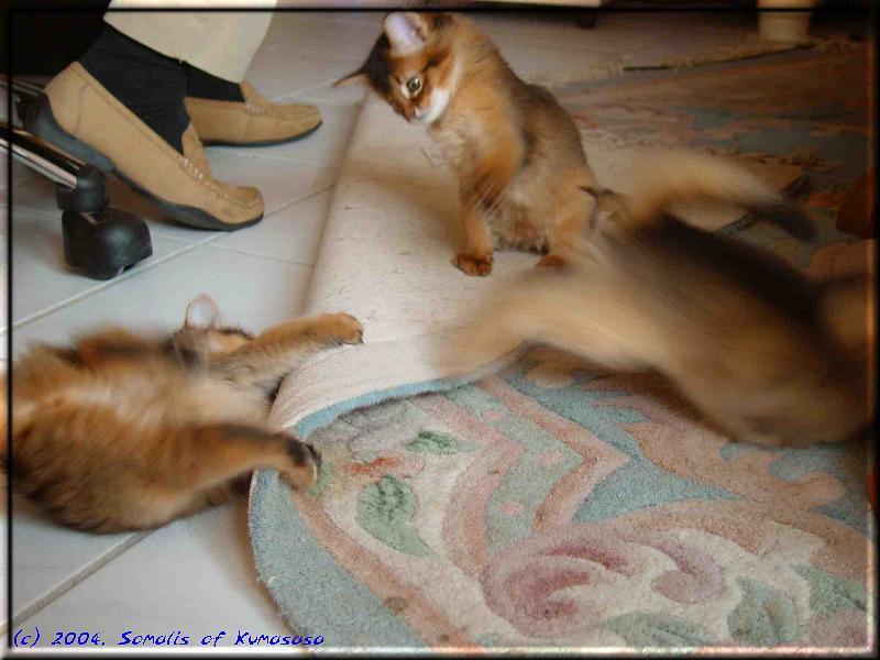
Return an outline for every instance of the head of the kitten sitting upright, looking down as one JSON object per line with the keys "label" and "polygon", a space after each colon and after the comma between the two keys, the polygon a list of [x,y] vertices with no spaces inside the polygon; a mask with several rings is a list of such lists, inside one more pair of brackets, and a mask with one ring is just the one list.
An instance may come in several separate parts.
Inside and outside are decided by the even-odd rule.
{"label": "head of the kitten sitting upright, looking down", "polygon": [[389,14],[364,65],[340,82],[365,79],[400,117],[432,124],[454,87],[453,56],[443,38],[449,22],[442,14]]}

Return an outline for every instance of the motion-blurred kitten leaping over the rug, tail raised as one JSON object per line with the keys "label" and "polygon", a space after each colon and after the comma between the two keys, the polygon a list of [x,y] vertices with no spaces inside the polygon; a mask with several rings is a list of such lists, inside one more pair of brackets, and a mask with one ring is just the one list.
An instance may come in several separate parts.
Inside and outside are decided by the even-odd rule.
{"label": "motion-blurred kitten leaping over the rug, tail raised", "polygon": [[561,268],[527,273],[496,298],[468,363],[499,343],[540,341],[656,370],[744,441],[806,447],[862,429],[873,414],[867,274],[811,283],[776,255],[669,215],[676,201],[730,201],[810,234],[802,213],[732,164],[664,155],[637,180],[630,200],[591,191],[587,240]]}

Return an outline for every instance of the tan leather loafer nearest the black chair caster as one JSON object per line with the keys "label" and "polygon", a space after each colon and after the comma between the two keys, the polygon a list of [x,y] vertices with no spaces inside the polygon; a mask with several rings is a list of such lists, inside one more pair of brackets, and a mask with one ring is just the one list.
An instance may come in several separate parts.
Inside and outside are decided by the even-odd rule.
{"label": "tan leather loafer nearest the black chair caster", "polygon": [[72,156],[116,174],[175,220],[231,231],[263,218],[263,196],[211,178],[190,123],[180,154],[75,62],[46,86],[25,119],[32,133]]}

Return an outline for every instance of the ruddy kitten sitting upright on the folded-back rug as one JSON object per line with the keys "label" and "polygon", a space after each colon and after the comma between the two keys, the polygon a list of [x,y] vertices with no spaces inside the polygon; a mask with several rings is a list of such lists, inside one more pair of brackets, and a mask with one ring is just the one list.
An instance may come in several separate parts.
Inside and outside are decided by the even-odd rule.
{"label": "ruddy kitten sitting upright on the folded-back rug", "polygon": [[494,246],[554,253],[581,233],[593,201],[578,185],[595,180],[578,128],[469,19],[389,14],[364,65],[337,84],[350,80],[439,143],[459,180],[454,263],[468,275],[490,274]]}

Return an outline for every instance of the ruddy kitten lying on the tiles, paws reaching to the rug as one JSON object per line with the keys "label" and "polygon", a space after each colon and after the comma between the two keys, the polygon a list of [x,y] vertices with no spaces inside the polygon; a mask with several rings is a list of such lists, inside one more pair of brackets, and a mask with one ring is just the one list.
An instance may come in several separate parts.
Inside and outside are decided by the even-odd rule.
{"label": "ruddy kitten lying on the tiles, paws reaching to the rug", "polygon": [[[12,372],[12,487],[54,520],[95,532],[157,527],[218,504],[260,468],[309,487],[320,455],[268,428],[268,395],[309,353],[360,343],[361,332],[337,314],[253,337],[219,326],[201,296],[170,337],[109,328],[73,348],[34,346]],[[6,405],[6,380],[2,389]]]}

